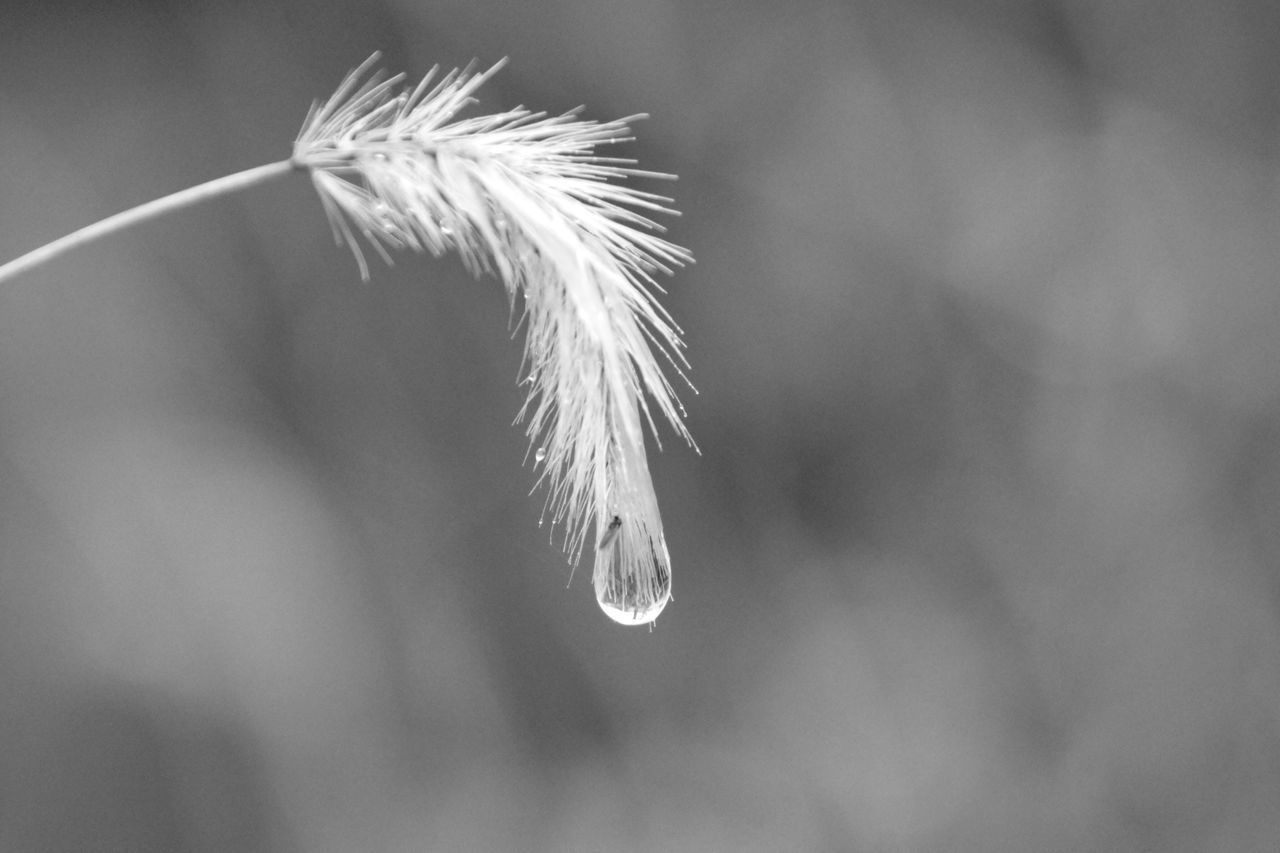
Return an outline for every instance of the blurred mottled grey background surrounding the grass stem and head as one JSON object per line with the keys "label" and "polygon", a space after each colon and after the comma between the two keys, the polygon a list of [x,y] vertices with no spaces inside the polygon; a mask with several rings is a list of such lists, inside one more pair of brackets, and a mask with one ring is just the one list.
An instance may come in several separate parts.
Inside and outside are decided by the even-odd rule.
{"label": "blurred mottled grey background surrounding the grass stem and head", "polygon": [[1280,6],[0,15],[0,259],[374,50],[650,113],[703,451],[625,629],[456,259],[361,284],[294,177],[5,284],[0,849],[1280,848]]}

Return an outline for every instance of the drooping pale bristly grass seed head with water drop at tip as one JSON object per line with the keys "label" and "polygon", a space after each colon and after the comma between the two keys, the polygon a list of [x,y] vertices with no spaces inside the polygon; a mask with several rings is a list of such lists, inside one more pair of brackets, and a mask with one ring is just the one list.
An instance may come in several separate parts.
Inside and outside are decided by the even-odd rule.
{"label": "drooping pale bristly grass seed head with water drop at tip", "polygon": [[[594,523],[594,585],[625,624],[652,622],[671,597],[662,519],[641,415],[667,420],[692,446],[684,410],[655,356],[684,378],[680,329],[658,302],[658,273],[690,254],[655,236],[664,196],[611,183],[671,178],[596,154],[631,140],[630,119],[598,123],[516,108],[458,118],[504,63],[413,88],[384,78],[375,54],[312,108],[293,163],[310,170],[339,243],[369,265],[360,238],[390,250],[456,251],[475,274],[502,279],[526,323],[527,420],[544,515],[563,524],[575,564]],[[654,412],[657,410],[657,412]],[[536,485],[535,485],[536,488]]]}

